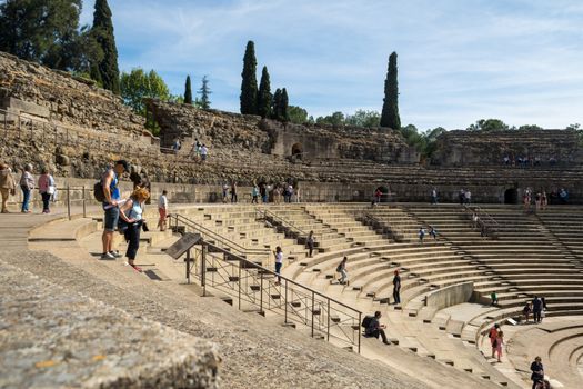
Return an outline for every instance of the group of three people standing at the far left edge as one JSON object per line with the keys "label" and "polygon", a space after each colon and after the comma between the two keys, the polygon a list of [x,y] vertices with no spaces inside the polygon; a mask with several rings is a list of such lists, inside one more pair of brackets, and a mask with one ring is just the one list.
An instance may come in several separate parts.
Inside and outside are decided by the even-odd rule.
{"label": "group of three people standing at the far left edge", "polygon": [[[33,167],[27,163],[22,169],[19,186],[22,191],[22,205],[20,211],[22,213],[31,213],[31,197],[34,189],[39,190],[42,199],[42,213],[50,213],[51,199],[57,199],[57,183],[51,176],[48,168],[42,168],[41,173],[34,180]],[[10,196],[17,194],[17,182],[12,174],[12,169],[6,163],[0,163],[0,192],[2,196],[2,213],[8,213],[8,200]]]}

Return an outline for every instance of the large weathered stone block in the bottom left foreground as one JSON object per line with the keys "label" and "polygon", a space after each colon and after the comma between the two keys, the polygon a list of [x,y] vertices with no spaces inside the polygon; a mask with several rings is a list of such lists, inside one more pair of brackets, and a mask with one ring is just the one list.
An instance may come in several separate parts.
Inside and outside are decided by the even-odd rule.
{"label": "large weathered stone block in the bottom left foreground", "polygon": [[[121,297],[121,296],[120,296]],[[209,341],[0,261],[0,387],[215,388]]]}

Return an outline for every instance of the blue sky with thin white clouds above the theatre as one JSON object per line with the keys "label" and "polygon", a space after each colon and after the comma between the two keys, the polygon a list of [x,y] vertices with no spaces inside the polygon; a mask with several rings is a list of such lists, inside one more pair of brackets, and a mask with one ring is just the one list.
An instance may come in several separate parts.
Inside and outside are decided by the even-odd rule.
{"label": "blue sky with thin white clouds above the theatre", "polygon": [[[583,123],[581,0],[110,0],[121,70],[154,69],[174,94],[208,74],[213,108],[239,111],[244,47],[258,80],[310,114],[381,110],[399,54],[403,124],[478,119]],[[91,23],[93,1],[83,3]]]}

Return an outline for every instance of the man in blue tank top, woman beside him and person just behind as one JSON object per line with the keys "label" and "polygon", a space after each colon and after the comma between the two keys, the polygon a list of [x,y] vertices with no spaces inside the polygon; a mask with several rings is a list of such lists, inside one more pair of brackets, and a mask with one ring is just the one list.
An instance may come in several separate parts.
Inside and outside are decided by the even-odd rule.
{"label": "man in blue tank top, woman beside him and person just behind", "polygon": [[[120,179],[123,173],[129,171],[129,163],[125,160],[119,160],[113,167],[108,169],[101,177],[102,190],[102,208],[104,212],[103,218],[103,233],[101,236],[103,251],[101,253],[102,260],[113,260],[120,255],[113,250],[113,233],[119,231],[123,233],[128,242],[125,257],[128,265],[137,271],[142,271],[135,265],[135,257],[140,248],[141,231],[148,231],[148,225],[144,219],[144,206],[150,198],[150,181],[145,178],[138,180],[139,176],[133,176],[133,191],[123,199],[120,190]],[[168,192],[162,191],[158,201],[160,219],[158,227],[160,230],[165,230],[165,222],[168,217]]]}

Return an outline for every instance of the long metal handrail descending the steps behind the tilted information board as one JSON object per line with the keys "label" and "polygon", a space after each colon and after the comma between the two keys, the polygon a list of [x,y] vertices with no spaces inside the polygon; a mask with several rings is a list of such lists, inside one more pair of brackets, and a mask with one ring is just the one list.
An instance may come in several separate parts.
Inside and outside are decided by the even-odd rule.
{"label": "long metal handrail descending the steps behind the tilted information board", "polygon": [[[175,220],[178,222],[182,219],[177,218]],[[248,258],[233,253],[225,248],[210,243],[204,239],[204,237],[198,245],[201,246],[200,248],[195,248],[200,252],[199,257],[201,259],[201,266],[200,268],[194,269],[194,277],[200,278],[203,296],[207,296],[207,286],[210,286],[238,298],[239,309],[241,309],[241,301],[243,300],[254,306],[259,306],[260,312],[262,312],[263,309],[268,309],[274,313],[284,315],[285,323],[290,323],[293,321],[293,318],[298,317],[300,318],[299,321],[301,323],[311,326],[312,337],[314,336],[315,331],[323,332],[322,329],[324,329],[326,339],[330,340],[330,329],[338,327],[339,332],[336,335],[332,335],[332,337],[336,336],[336,338],[339,338],[338,335],[342,333],[343,341],[346,341],[348,339],[351,345],[356,346],[358,352],[360,353],[360,323],[362,321],[361,311],[342,301],[335,300],[323,292],[306,287],[285,276],[281,276],[273,270],[263,267],[262,265],[249,260]],[[217,258],[217,253],[224,255],[223,259],[221,260],[220,258]],[[209,263],[211,265],[210,267],[213,268],[212,272],[210,272],[207,265],[208,257],[211,257]],[[229,271],[228,275],[218,273],[219,267],[217,261],[224,263],[224,266],[220,267],[220,269]],[[197,268],[197,260],[194,260],[192,265],[194,268]],[[190,279],[192,270],[193,268],[190,265],[190,260],[187,260],[188,279]],[[245,275],[243,275],[243,272],[245,272]],[[215,278],[218,278],[218,280],[215,280]],[[247,288],[242,288],[241,285],[248,282],[249,278],[251,278],[253,283],[259,287],[259,298],[249,291],[244,291]],[[279,279],[279,283],[274,283],[275,279]],[[267,286],[264,286],[264,281],[267,281]],[[232,285],[233,282],[235,282],[235,285]],[[248,285],[245,283],[245,286]],[[272,291],[277,292],[277,298],[272,297]],[[264,300],[264,297],[267,301]],[[273,302],[271,300],[273,300]],[[293,301],[303,301],[305,306],[303,309],[305,310],[305,313],[303,316],[301,313],[302,309],[293,308]],[[342,309],[340,310],[338,308],[333,308],[331,305],[341,307]],[[322,310],[328,315],[322,313]],[[332,311],[334,313],[342,313],[344,319],[339,318],[338,320],[334,320],[330,315]],[[323,317],[325,317],[328,322],[324,322],[326,320],[324,320]],[[319,322],[318,328],[315,328],[316,320]],[[348,326],[348,322],[350,321],[352,321],[352,336],[349,336],[341,327],[341,325]],[[354,335],[354,331],[358,332],[358,336]]]}

